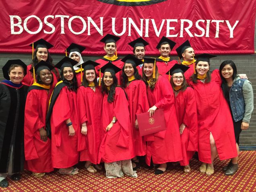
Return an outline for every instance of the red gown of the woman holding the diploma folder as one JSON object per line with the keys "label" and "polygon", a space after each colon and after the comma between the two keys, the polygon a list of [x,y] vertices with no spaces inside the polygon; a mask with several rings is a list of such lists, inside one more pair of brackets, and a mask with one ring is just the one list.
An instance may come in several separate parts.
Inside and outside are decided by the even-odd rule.
{"label": "red gown of the woman holding the diploma folder", "polygon": [[171,84],[159,76],[155,89],[147,87],[149,107],[154,105],[164,110],[166,130],[145,136],[147,142],[146,163],[161,164],[182,160],[180,132],[174,106],[174,95]]}

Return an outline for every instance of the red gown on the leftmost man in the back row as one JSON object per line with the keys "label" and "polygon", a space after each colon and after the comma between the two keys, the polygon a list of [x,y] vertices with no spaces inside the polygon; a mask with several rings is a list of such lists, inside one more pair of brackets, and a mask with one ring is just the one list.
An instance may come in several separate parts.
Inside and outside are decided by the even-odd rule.
{"label": "red gown on the leftmost man in the back row", "polygon": [[[111,62],[112,64],[114,64],[115,66],[117,66],[118,68],[122,69],[123,66],[124,66],[124,62],[122,62],[120,59],[118,60],[114,60],[114,61],[111,61],[111,60],[107,60],[105,58],[102,58],[102,59],[98,59],[96,60],[95,62],[99,63],[100,65],[96,66],[96,74],[97,76],[99,77],[99,69],[101,67],[103,67],[105,64],[107,64],[108,62]],[[116,78],[118,79],[118,85],[121,85],[121,76],[122,76],[122,70],[120,72],[117,72],[116,73]],[[101,79],[103,77],[103,73],[101,73]]]}

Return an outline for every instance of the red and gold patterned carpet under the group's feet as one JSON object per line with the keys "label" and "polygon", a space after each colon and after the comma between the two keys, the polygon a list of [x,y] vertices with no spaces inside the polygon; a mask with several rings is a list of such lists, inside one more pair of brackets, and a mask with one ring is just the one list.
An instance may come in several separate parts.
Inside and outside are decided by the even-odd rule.
{"label": "red and gold patterned carpet under the group's feet", "polygon": [[200,162],[192,159],[191,173],[183,173],[179,165],[168,165],[162,175],[154,175],[154,169],[142,165],[138,178],[107,179],[103,171],[89,173],[80,169],[76,175],[61,175],[56,171],[43,178],[34,178],[24,171],[20,181],[8,178],[9,187],[4,192],[256,192],[256,151],[241,151],[239,170],[233,176],[225,176],[222,167],[228,161],[215,159],[215,173],[200,173]]}

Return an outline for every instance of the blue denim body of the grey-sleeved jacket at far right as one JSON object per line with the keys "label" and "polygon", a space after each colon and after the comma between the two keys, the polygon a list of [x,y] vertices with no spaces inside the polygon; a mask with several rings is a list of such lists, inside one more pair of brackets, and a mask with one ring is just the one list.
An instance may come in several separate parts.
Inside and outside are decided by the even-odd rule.
{"label": "blue denim body of the grey-sleeved jacket at far right", "polygon": [[229,92],[229,102],[231,106],[231,111],[233,119],[235,122],[242,120],[244,118],[245,103],[243,96],[243,85],[246,79],[235,78],[233,85]]}

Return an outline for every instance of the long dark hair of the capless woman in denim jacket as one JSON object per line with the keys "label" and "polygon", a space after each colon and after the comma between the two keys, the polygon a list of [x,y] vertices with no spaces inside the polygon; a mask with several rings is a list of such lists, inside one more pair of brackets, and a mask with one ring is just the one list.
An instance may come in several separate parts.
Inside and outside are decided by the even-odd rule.
{"label": "long dark hair of the capless woman in denim jacket", "polygon": [[221,80],[222,80],[222,84],[221,84],[221,88],[223,91],[223,94],[225,96],[225,98],[228,100],[229,99],[229,87],[227,86],[227,81],[226,79],[222,76],[221,71],[222,69],[226,66],[226,65],[230,65],[233,68],[233,75],[232,75],[232,80],[235,79],[235,77],[237,77],[237,68],[235,66],[235,63],[231,60],[225,60],[221,63],[221,65],[219,66],[219,73],[221,76]]}

